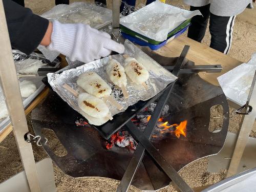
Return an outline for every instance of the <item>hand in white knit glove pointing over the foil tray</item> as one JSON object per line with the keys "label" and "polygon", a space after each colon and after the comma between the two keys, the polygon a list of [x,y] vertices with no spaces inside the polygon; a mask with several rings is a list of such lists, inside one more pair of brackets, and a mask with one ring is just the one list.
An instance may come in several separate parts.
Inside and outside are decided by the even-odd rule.
{"label": "hand in white knit glove pointing over the foil tray", "polygon": [[111,51],[124,52],[124,46],[111,39],[108,33],[100,32],[84,24],[61,24],[53,22],[51,43],[47,49],[68,56],[71,61],[91,62],[108,56]]}

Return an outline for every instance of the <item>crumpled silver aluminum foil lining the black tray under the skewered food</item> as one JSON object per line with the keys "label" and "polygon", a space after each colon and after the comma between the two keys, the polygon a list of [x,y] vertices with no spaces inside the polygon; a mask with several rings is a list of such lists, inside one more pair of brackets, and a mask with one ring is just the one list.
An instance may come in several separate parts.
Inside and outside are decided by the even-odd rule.
{"label": "crumpled silver aluminum foil lining the black tray under the skewered food", "polygon": [[129,77],[127,77],[126,89],[129,93],[129,98],[127,99],[124,99],[121,90],[110,82],[109,77],[106,74],[106,65],[108,65],[108,62],[111,58],[116,59],[120,62],[121,65],[124,65],[123,60],[125,58],[121,54],[98,59],[84,65],[82,65],[82,63],[79,61],[72,62],[67,58],[70,65],[79,66],[80,64],[80,66],[75,69],[63,71],[61,74],[48,73],[47,75],[48,82],[50,83],[53,90],[63,100],[65,100],[74,110],[76,110],[85,118],[87,118],[90,124],[101,125],[108,121],[108,119],[92,118],[91,116],[82,112],[78,107],[77,98],[62,87],[63,84],[67,83],[70,87],[72,87],[79,93],[84,92],[81,88],[77,86],[76,83],[80,74],[87,71],[94,71],[97,74],[99,74],[99,76],[101,76],[103,80],[108,82],[109,86],[112,88],[111,96],[113,96],[115,100],[123,106],[123,110],[119,111],[115,108],[115,106],[112,106],[107,101],[106,104],[109,106],[112,116],[125,111],[128,108],[128,106],[134,105],[139,100],[145,101],[154,97],[156,94],[162,91],[169,83],[177,79],[176,76],[174,76],[172,73],[161,67],[156,61],[147,56],[129,40],[126,40],[124,42],[124,47],[125,54],[128,54],[130,57],[135,57],[139,62],[141,62],[146,67],[146,69],[150,73],[150,78],[146,82],[148,90],[145,90],[145,88],[142,85],[135,84],[131,81],[131,79],[129,79]]}

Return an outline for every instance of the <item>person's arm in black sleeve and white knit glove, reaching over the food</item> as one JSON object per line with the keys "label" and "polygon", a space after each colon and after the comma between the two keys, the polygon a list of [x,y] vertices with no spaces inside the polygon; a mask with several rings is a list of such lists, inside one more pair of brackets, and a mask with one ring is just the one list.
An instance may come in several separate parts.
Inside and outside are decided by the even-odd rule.
{"label": "person's arm in black sleeve and white knit glove, reaching over the food", "polygon": [[26,54],[33,52],[39,44],[82,62],[106,57],[111,51],[124,52],[123,45],[112,40],[108,33],[89,25],[49,22],[10,0],[3,2],[11,45]]}

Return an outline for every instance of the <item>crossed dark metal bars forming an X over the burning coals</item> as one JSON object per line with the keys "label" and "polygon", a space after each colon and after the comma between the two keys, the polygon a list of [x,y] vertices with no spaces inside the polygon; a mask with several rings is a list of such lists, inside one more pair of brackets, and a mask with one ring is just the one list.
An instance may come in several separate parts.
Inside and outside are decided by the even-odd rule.
{"label": "crossed dark metal bars forming an X over the burning coals", "polygon": [[[188,49],[189,49],[189,46],[185,46],[183,48],[182,53],[181,53],[180,57],[178,58],[175,67],[173,68],[173,74],[176,76],[179,75],[180,69],[182,68],[182,65],[184,65],[184,59],[186,57]],[[134,175],[142,161],[142,158],[144,156],[145,148],[146,148],[146,150],[148,148],[150,148],[150,152],[148,152],[148,153],[155,159],[155,161],[157,161],[157,163],[163,168],[164,172],[174,181],[174,183],[177,184],[177,188],[181,189],[182,191],[193,191],[184,182],[184,180],[179,176],[179,174],[176,172],[176,170],[171,165],[166,163],[164,158],[161,156],[161,154],[159,154],[159,152],[150,143],[150,141],[148,141],[152,137],[154,128],[157,124],[158,119],[161,116],[162,109],[164,108],[164,105],[165,105],[167,99],[169,98],[169,95],[172,92],[173,87],[174,87],[174,84],[160,96],[159,101],[154,110],[154,113],[152,114],[151,119],[148,122],[143,134],[137,129],[137,127],[135,127],[133,122],[129,121],[128,123],[126,123],[126,129],[130,132],[130,134],[137,141],[139,141],[139,144],[136,148],[136,151],[134,152],[134,155],[133,155],[129,165],[126,168],[126,171],[123,175],[121,183],[119,184],[119,186],[117,188],[118,192],[127,191],[129,189],[130,184],[133,180],[133,177],[134,177]],[[141,143],[141,141],[143,143]]]}

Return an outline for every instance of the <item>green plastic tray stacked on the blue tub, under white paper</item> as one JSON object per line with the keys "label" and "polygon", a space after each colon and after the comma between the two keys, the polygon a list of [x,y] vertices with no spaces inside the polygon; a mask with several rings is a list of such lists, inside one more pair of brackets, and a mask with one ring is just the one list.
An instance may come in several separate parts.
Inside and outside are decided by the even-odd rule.
{"label": "green plastic tray stacked on the blue tub, under white paper", "polygon": [[[189,24],[190,24],[190,19],[187,19],[185,20],[185,22],[183,22],[182,24],[180,24],[178,27],[176,27],[173,31],[169,32],[168,35],[167,35],[167,38],[174,35],[175,33],[177,33],[178,31],[184,29],[185,27],[187,27]],[[120,30],[126,34],[129,34],[131,36],[134,36],[134,37],[137,37],[145,42],[148,42],[150,44],[153,44],[153,45],[158,45],[158,44],[161,44],[162,41],[157,41],[157,40],[154,40],[154,39],[151,39],[151,38],[148,38],[144,35],[141,35],[135,31],[132,31],[131,29],[128,29],[126,27],[124,27],[123,25],[120,24]]]}

